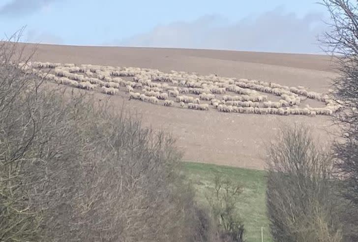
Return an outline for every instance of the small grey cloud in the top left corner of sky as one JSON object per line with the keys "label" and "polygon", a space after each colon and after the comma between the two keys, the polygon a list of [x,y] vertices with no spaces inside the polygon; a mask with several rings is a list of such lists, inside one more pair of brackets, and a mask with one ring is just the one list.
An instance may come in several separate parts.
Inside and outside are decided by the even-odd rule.
{"label": "small grey cloud in the top left corner of sky", "polygon": [[56,0],[12,0],[0,7],[0,16],[6,15],[17,17],[21,15],[31,14],[40,10],[42,7],[48,6]]}

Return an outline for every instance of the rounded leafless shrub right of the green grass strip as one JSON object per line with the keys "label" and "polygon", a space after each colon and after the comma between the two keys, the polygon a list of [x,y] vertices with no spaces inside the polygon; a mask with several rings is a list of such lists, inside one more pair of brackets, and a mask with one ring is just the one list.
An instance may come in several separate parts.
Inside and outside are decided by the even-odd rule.
{"label": "rounded leafless shrub right of the green grass strip", "polygon": [[275,241],[342,241],[331,165],[304,126],[282,129],[269,145],[267,207]]}

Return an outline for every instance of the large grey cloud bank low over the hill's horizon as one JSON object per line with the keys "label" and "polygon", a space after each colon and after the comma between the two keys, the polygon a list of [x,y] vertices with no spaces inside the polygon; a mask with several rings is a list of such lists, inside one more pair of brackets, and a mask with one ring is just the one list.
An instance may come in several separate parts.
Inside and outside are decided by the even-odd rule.
{"label": "large grey cloud bank low over the hill's horizon", "polygon": [[203,16],[192,22],[157,26],[148,33],[132,36],[113,45],[230,49],[245,51],[319,53],[317,36],[325,31],[322,13],[298,17],[277,7],[258,17],[229,23],[218,15]]}

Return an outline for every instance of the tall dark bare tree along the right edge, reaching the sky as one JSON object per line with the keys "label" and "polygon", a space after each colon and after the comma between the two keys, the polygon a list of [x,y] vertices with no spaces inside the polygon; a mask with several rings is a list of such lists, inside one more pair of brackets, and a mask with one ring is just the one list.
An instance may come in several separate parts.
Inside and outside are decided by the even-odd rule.
{"label": "tall dark bare tree along the right edge, reaching the sky", "polygon": [[330,14],[330,31],[321,39],[336,63],[339,77],[333,80],[333,96],[344,109],[333,120],[340,125],[341,139],[335,143],[336,177],[339,191],[348,201],[345,234],[358,240],[358,1],[323,0]]}

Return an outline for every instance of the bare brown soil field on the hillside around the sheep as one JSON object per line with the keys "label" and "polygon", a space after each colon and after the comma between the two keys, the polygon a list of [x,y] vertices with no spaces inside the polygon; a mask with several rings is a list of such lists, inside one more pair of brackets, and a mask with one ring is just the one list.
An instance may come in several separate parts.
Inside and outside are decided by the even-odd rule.
{"label": "bare brown soil field on the hillside around the sheep", "polygon": [[[28,45],[27,50],[32,47],[34,45]],[[321,93],[328,91],[330,78],[335,76],[329,57],[301,54],[38,45],[33,60],[218,74],[287,86],[302,85]],[[108,95],[96,93],[95,97],[103,100]],[[111,102],[118,104],[119,109],[124,102],[126,107],[142,117],[145,126],[172,133],[187,161],[264,169],[265,146],[286,124],[306,123],[324,142],[334,138],[335,129],[329,116],[257,115],[168,108],[128,101],[128,97],[123,95],[112,96]]]}

